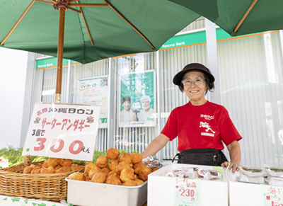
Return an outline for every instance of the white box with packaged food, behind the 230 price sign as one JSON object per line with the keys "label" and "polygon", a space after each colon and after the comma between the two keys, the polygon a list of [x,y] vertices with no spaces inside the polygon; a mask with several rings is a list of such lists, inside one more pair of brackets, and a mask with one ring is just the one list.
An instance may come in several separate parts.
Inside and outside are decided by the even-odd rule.
{"label": "white box with packaged food, behind the 230 price sign", "polygon": [[[198,167],[213,169],[214,166],[198,166],[192,164],[169,164],[149,174],[148,179],[148,206],[172,206],[174,205],[175,178],[164,177],[167,171],[174,168]],[[227,206],[228,205],[228,182],[224,173],[223,181],[201,181],[200,190],[201,205]]]}

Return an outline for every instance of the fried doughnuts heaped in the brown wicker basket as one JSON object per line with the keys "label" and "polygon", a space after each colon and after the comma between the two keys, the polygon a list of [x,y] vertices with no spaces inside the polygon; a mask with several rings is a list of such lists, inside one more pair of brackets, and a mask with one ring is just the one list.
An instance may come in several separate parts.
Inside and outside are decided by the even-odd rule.
{"label": "fried doughnuts heaped in the brown wicker basket", "polygon": [[66,173],[69,171],[80,171],[84,166],[74,164],[71,159],[50,158],[43,162],[41,166],[30,164],[23,170],[24,174],[42,173]]}

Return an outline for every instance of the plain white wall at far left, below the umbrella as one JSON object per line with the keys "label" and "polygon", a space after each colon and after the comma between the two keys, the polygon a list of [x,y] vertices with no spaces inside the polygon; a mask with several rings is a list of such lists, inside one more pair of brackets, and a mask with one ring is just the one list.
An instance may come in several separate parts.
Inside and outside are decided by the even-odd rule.
{"label": "plain white wall at far left, below the umbrella", "polygon": [[28,52],[0,47],[0,149],[8,145],[23,147],[26,134],[22,133],[26,130],[22,130],[22,125],[29,122],[30,108],[25,101],[33,84],[30,74],[27,76],[28,57]]}

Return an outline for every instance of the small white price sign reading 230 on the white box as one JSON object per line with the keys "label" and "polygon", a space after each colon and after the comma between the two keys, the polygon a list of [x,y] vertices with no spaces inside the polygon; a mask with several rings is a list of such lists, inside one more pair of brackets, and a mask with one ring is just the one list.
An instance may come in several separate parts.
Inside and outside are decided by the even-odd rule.
{"label": "small white price sign reading 230 on the white box", "polygon": [[200,179],[175,178],[174,206],[200,206]]}

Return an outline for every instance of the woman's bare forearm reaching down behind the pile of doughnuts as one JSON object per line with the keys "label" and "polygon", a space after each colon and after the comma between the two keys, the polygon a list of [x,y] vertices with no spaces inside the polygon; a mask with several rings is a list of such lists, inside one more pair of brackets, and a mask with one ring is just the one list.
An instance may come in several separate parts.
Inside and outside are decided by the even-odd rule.
{"label": "woman's bare forearm reaching down behind the pile of doughnuts", "polygon": [[154,156],[159,150],[161,150],[167,142],[169,141],[169,138],[166,137],[163,134],[158,135],[152,142],[149,144],[149,146],[146,147],[146,149],[141,153],[142,159],[148,157],[148,156]]}

